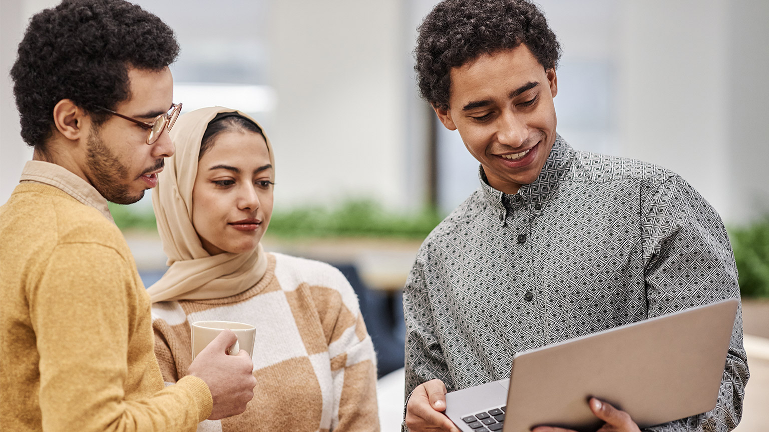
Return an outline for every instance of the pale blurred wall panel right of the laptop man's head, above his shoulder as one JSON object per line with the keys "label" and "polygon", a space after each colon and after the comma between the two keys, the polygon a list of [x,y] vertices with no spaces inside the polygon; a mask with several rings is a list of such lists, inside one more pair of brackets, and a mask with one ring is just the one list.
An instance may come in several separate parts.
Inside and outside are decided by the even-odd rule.
{"label": "pale blurred wall panel right of the laptop man's head, above his shoulder", "polygon": [[621,155],[671,168],[722,217],[734,217],[726,2],[628,0],[625,6]]}

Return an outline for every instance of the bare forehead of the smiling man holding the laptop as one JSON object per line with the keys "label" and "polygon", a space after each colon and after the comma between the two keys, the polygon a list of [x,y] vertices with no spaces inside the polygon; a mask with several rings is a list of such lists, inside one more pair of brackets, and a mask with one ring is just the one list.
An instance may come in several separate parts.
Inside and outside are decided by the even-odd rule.
{"label": "bare forehead of the smiling man holding the laptop", "polygon": [[507,98],[510,91],[529,82],[547,81],[544,68],[524,44],[481,55],[451,68],[449,76],[449,105],[460,108],[469,101]]}

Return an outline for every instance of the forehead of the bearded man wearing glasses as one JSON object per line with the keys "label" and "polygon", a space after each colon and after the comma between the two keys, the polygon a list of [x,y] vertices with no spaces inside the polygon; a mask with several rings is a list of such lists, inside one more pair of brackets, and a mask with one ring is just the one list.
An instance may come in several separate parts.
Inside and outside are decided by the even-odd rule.
{"label": "forehead of the bearded man wearing glasses", "polygon": [[128,68],[128,99],[116,111],[128,115],[168,111],[174,96],[174,78],[168,67],[159,70]]}

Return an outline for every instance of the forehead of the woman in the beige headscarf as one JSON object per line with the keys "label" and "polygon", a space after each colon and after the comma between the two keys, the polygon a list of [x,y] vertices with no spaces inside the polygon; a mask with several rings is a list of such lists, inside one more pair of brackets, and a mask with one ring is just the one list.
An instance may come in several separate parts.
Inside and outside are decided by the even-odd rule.
{"label": "forehead of the woman in the beige headscarf", "polygon": [[216,135],[211,148],[203,154],[200,165],[226,164],[237,168],[261,167],[270,163],[267,142],[251,131],[223,131]]}

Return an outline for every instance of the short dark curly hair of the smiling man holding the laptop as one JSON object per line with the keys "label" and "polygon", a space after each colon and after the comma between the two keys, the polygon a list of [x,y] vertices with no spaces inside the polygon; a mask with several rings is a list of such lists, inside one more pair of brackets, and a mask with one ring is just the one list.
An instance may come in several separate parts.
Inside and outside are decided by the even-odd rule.
{"label": "short dark curly hair of the smiling man holding the laptop", "polygon": [[546,70],[558,66],[561,45],[544,14],[525,0],[445,0],[424,17],[414,49],[422,98],[448,109],[451,68],[480,55],[524,44]]}

